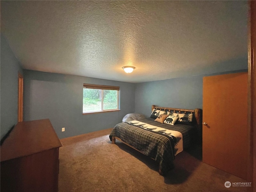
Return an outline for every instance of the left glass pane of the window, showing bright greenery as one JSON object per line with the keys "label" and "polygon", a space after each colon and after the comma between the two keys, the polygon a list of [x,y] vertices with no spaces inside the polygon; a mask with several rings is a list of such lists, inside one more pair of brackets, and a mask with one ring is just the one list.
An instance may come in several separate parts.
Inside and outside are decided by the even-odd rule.
{"label": "left glass pane of the window, showing bright greenery", "polygon": [[100,89],[84,88],[83,112],[101,111],[102,92]]}

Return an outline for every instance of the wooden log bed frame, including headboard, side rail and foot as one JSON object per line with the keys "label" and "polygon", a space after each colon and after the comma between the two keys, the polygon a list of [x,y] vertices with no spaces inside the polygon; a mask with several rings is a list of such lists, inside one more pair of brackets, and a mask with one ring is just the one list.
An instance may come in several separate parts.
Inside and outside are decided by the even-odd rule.
{"label": "wooden log bed frame, including headboard, side rail and foot", "polygon": [[[197,139],[196,139],[196,144],[202,144],[202,109],[194,109],[194,110],[189,110],[189,109],[178,109],[178,108],[169,108],[169,107],[157,107],[155,105],[152,105],[152,111],[154,109],[158,110],[163,110],[163,111],[168,111],[168,112],[174,112],[174,113],[183,113],[183,114],[193,114],[193,125],[196,127],[197,130]],[[119,140],[120,142],[130,146],[128,143],[123,142],[120,138],[116,136],[112,136],[112,143],[116,144],[116,139]],[[130,146],[131,148],[137,150],[136,148]],[[137,150],[140,152],[139,150]],[[159,169],[159,174],[162,175],[162,172]]]}

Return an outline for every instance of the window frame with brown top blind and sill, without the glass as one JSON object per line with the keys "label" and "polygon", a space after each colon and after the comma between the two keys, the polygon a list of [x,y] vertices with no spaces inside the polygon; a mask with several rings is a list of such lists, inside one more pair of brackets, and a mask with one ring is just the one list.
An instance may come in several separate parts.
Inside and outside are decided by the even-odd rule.
{"label": "window frame with brown top blind and sill, without the glass", "polygon": [[[120,111],[120,105],[119,105],[119,92],[120,92],[120,87],[118,86],[108,86],[108,85],[96,85],[96,84],[83,84],[83,90],[84,88],[88,89],[99,89],[102,92],[102,98],[101,98],[101,109],[100,111],[90,111],[90,112],[82,112],[82,114],[96,114],[96,113],[104,113],[104,112],[114,112],[114,111]],[[116,90],[117,92],[117,108],[116,109],[103,109],[103,100],[104,100],[104,90]],[[84,96],[83,96],[83,109],[84,109]]]}

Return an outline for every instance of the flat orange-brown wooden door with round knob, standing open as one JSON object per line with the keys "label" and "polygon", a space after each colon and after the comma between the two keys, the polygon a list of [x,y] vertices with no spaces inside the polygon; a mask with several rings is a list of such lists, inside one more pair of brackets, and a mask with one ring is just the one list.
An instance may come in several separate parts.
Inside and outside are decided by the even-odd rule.
{"label": "flat orange-brown wooden door with round knob, standing open", "polygon": [[203,78],[203,162],[247,179],[248,73]]}

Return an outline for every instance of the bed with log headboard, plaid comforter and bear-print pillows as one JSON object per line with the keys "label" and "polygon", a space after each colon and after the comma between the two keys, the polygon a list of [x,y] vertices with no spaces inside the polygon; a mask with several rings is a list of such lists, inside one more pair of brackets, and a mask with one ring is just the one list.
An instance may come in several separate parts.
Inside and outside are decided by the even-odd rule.
{"label": "bed with log headboard, plaid comforter and bear-print pillows", "polygon": [[164,176],[174,168],[178,153],[202,142],[202,110],[152,105],[150,118],[118,123],[109,138],[113,144],[117,139],[154,159]]}

